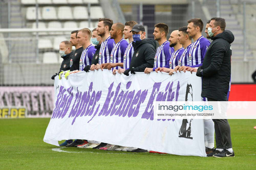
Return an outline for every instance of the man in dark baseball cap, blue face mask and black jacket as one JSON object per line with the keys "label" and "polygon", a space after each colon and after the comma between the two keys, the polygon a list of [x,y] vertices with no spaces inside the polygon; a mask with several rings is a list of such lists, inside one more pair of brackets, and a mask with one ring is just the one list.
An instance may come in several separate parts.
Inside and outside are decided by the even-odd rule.
{"label": "man in dark baseball cap, blue face mask and black jacket", "polygon": [[156,42],[154,39],[146,38],[145,28],[141,24],[133,26],[132,30],[134,53],[129,69],[124,71],[125,75],[129,72],[144,72],[145,68],[153,68],[156,55]]}

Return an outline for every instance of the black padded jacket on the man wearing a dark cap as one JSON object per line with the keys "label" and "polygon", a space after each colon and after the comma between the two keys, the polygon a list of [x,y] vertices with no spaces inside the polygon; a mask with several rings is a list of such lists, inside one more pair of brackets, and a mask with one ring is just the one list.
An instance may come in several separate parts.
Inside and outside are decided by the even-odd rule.
{"label": "black padded jacket on the man wearing a dark cap", "polygon": [[[154,58],[156,55],[156,42],[154,39],[145,38],[136,43],[132,43],[134,53],[130,63],[130,69],[126,70],[124,74],[129,71],[144,72],[145,68],[154,67]],[[126,74],[127,75],[127,74]]]}

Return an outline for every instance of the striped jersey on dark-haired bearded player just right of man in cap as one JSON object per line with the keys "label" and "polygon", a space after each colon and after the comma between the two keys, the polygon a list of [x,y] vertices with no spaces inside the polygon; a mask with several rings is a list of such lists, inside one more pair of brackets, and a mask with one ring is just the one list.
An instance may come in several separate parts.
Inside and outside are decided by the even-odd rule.
{"label": "striped jersey on dark-haired bearded player just right of man in cap", "polygon": [[173,47],[170,47],[170,42],[166,41],[161,46],[159,46],[156,50],[156,56],[154,59],[154,68],[157,69],[158,67],[165,67],[169,65],[170,58],[174,52]]}

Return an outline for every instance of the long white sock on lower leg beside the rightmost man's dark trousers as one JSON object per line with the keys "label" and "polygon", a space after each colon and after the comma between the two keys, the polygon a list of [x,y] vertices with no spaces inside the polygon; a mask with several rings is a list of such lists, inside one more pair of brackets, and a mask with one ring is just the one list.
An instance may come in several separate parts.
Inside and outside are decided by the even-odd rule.
{"label": "long white sock on lower leg beside the rightmost man's dark trousers", "polygon": [[204,119],[205,144],[209,149],[214,148],[214,122],[211,119]]}

